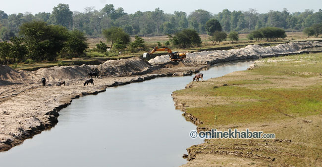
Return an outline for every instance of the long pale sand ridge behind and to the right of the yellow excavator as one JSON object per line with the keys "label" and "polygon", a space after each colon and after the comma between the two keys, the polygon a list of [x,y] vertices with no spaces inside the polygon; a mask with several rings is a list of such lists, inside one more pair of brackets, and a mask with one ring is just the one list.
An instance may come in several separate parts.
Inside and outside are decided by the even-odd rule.
{"label": "long pale sand ridge behind and to the right of the yellow excavator", "polygon": [[[271,47],[263,47],[258,44],[248,45],[244,48],[231,50],[211,50],[195,53],[187,53],[187,58],[183,60],[185,65],[210,65],[218,62],[240,60],[247,58],[262,58],[268,56],[278,56],[292,53],[301,53],[307,47],[322,46],[322,42],[289,42]],[[157,56],[149,60],[152,65],[163,64],[169,61],[168,55]]]}

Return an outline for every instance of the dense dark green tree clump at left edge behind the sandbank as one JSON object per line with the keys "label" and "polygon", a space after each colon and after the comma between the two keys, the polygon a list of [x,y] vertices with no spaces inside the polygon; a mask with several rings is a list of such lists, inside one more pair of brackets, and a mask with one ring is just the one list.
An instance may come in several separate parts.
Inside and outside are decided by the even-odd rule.
{"label": "dense dark green tree clump at left edge behind the sandbank", "polygon": [[0,42],[0,64],[79,57],[88,47],[83,32],[43,21],[23,23],[19,35]]}

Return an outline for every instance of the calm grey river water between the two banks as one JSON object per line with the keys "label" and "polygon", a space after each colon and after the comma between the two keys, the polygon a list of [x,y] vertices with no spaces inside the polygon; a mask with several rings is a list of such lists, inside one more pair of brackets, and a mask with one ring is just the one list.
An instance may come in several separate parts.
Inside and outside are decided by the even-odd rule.
{"label": "calm grey river water between the two banks", "polygon": [[[246,70],[252,61],[203,71],[204,79]],[[74,99],[59,123],[0,153],[0,167],[178,167],[196,126],[175,110],[171,93],[192,76],[158,78]]]}

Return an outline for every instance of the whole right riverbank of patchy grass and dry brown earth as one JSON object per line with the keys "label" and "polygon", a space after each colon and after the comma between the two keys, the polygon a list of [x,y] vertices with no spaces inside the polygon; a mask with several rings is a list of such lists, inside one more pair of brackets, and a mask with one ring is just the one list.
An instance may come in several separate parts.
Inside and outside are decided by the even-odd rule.
{"label": "whole right riverbank of patchy grass and dry brown earth", "polygon": [[271,59],[189,83],[173,99],[198,131],[249,128],[276,138],[206,139],[187,149],[190,161],[182,167],[322,166],[322,54]]}

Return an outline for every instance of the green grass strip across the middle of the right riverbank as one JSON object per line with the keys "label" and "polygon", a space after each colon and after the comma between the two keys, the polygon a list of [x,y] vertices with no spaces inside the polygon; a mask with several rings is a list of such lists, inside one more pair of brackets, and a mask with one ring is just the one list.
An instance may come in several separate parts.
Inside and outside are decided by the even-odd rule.
{"label": "green grass strip across the middle of the right riverbank", "polygon": [[[187,108],[187,113],[201,119],[205,125],[229,125],[290,118],[285,114],[294,117],[322,114],[322,86],[305,89],[271,88],[265,90],[222,86],[211,90],[211,92],[215,96],[256,100],[211,107]],[[215,115],[217,116],[216,123]]]}

